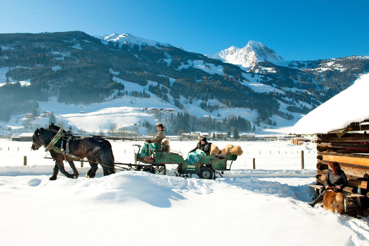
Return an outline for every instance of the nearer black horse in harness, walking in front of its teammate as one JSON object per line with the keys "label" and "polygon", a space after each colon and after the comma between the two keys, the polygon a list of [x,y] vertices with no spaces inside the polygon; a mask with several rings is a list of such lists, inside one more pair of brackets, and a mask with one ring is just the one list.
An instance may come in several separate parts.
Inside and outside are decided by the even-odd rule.
{"label": "nearer black horse in harness, walking in front of its teammate", "polygon": [[[44,145],[46,147],[53,137],[55,136],[56,132],[50,129],[37,129],[33,136],[32,136],[32,150],[38,150],[39,147]],[[55,146],[61,146],[62,139],[59,139]],[[63,148],[66,149],[66,139],[63,140]],[[69,153],[73,154],[79,158],[87,158],[90,163],[91,169],[87,172],[86,177],[94,177],[97,170],[97,164],[101,164],[104,171],[104,176],[115,173],[114,171],[114,156],[109,148],[105,143],[99,141],[93,137],[82,137],[80,139],[70,140],[69,143]],[[73,174],[69,174],[65,171],[63,160],[64,156],[62,153],[57,153],[54,150],[49,151],[51,157],[55,160],[55,167],[54,173],[49,180],[56,180],[56,175],[58,175],[59,170],[62,174],[64,174],[68,178],[77,178],[78,172],[74,171],[74,163],[71,165],[73,169]],[[75,160],[72,157],[66,156],[67,161]]]}

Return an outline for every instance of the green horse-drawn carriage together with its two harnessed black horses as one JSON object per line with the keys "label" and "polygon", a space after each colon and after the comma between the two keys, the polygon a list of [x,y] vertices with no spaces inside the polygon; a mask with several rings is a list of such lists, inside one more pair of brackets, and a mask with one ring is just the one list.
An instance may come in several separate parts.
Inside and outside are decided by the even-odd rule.
{"label": "green horse-drawn carriage together with its two harnessed black horses", "polygon": [[[223,171],[230,170],[233,161],[237,160],[237,155],[231,153],[213,154],[202,156],[199,160],[190,164],[177,153],[167,150],[166,144],[157,145],[153,150],[153,158],[144,158],[139,153],[135,153],[134,163],[117,163],[114,161],[111,144],[102,136],[76,137],[69,131],[50,124],[46,129],[37,129],[32,140],[32,149],[37,150],[41,145],[45,146],[45,151],[50,151],[51,158],[55,160],[54,174],[50,180],[55,180],[60,170],[68,178],[77,178],[78,171],[73,161],[88,161],[91,169],[86,177],[94,177],[97,164],[103,167],[104,175],[114,173],[114,170],[136,170],[166,175],[166,164],[177,165],[175,174],[180,177],[192,177],[197,174],[203,179],[216,178],[216,173],[223,174]],[[60,147],[57,147],[60,146]],[[83,147],[84,146],[84,147]],[[134,146],[141,146],[135,144]],[[82,153],[81,150],[94,150],[93,153]],[[45,157],[47,158],[47,157]],[[85,160],[84,158],[87,158]],[[68,161],[73,169],[73,174],[64,170],[63,160]],[[220,171],[220,172],[219,172]]]}

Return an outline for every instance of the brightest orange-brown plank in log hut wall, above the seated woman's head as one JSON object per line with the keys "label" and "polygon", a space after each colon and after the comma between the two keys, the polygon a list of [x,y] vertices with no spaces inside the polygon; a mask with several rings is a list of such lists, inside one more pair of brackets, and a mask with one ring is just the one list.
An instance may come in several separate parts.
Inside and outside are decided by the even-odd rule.
{"label": "brightest orange-brown plank in log hut wall, above the seated woman's head", "polygon": [[324,161],[337,161],[369,167],[369,155],[345,154],[335,152],[318,152],[318,155],[323,156]]}

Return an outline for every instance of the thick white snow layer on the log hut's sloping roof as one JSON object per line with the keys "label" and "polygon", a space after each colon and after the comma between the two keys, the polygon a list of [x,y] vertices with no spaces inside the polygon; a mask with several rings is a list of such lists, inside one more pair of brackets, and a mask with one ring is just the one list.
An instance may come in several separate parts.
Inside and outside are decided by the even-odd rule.
{"label": "thick white snow layer on the log hut's sloping roof", "polygon": [[369,119],[369,74],[360,76],[353,85],[338,93],[304,117],[291,129],[293,134],[328,133],[353,122]]}

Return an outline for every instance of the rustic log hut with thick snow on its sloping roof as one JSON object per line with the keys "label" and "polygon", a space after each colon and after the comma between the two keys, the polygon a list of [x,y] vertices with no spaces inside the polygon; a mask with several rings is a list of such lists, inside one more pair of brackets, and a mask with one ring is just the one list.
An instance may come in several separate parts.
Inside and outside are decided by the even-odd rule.
{"label": "rustic log hut with thick snow on its sloping roof", "polygon": [[351,194],[345,195],[346,205],[348,198],[355,198],[360,205],[360,199],[369,197],[368,90],[369,74],[366,74],[308,113],[291,130],[294,134],[318,136],[315,176],[318,185],[324,184],[329,162],[339,163],[349,181],[344,188],[344,192]]}

